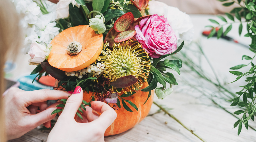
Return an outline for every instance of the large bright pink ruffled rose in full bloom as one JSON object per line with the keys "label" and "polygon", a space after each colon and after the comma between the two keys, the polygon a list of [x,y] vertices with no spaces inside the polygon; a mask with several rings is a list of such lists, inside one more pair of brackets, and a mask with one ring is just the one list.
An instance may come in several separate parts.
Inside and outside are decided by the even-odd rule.
{"label": "large bright pink ruffled rose in full bloom", "polygon": [[177,49],[177,37],[164,16],[154,14],[141,20],[141,26],[135,26],[136,39],[142,43],[149,56],[159,58]]}

